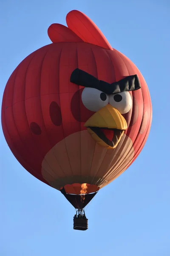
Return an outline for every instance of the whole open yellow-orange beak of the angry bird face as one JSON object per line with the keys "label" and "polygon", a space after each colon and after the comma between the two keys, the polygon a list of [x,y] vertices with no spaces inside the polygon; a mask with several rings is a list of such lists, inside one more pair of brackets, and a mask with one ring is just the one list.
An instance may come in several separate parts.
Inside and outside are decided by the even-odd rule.
{"label": "whole open yellow-orange beak of the angry bird face", "polygon": [[94,113],[84,126],[99,145],[113,149],[127,129],[127,122],[116,108],[108,104]]}

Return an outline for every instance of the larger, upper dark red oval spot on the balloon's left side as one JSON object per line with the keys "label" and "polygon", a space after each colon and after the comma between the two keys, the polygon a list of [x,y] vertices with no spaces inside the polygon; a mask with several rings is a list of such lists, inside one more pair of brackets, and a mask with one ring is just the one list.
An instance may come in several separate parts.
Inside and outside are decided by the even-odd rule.
{"label": "larger, upper dark red oval spot on the balloon's left side", "polygon": [[50,104],[50,117],[54,125],[59,126],[62,123],[61,110],[57,102],[51,102]]}

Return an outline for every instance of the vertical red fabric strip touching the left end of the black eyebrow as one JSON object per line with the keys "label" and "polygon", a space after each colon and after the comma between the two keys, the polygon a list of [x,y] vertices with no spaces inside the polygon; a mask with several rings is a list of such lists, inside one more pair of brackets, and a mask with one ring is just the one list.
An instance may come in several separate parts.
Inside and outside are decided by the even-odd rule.
{"label": "vertical red fabric strip touching the left end of the black eyebrow", "polygon": [[[80,128],[80,123],[71,113],[71,99],[79,87],[70,82],[70,76],[77,67],[77,44],[69,43],[69,47],[67,43],[63,44],[59,62],[59,99],[64,137]],[[79,108],[79,102],[75,102],[75,108]]]}

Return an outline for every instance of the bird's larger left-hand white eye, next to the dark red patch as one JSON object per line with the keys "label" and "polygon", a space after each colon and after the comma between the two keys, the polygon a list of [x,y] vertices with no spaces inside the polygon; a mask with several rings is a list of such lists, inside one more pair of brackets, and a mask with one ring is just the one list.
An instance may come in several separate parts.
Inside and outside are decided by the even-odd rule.
{"label": "bird's larger left-hand white eye, next to the dark red patch", "polygon": [[82,103],[88,110],[96,112],[105,107],[108,102],[109,96],[100,90],[85,87],[82,91]]}

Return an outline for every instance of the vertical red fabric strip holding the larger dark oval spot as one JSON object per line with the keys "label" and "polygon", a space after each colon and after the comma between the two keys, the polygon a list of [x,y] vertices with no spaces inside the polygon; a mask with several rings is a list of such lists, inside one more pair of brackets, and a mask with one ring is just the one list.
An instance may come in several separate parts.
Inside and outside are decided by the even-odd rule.
{"label": "vertical red fabric strip holding the larger dark oval spot", "polygon": [[[56,102],[60,109],[59,98],[59,62],[62,44],[51,44],[45,55],[41,69],[41,111],[51,148],[64,138],[62,124],[54,125],[50,116],[51,102]],[[54,113],[56,115],[57,113]]]}

